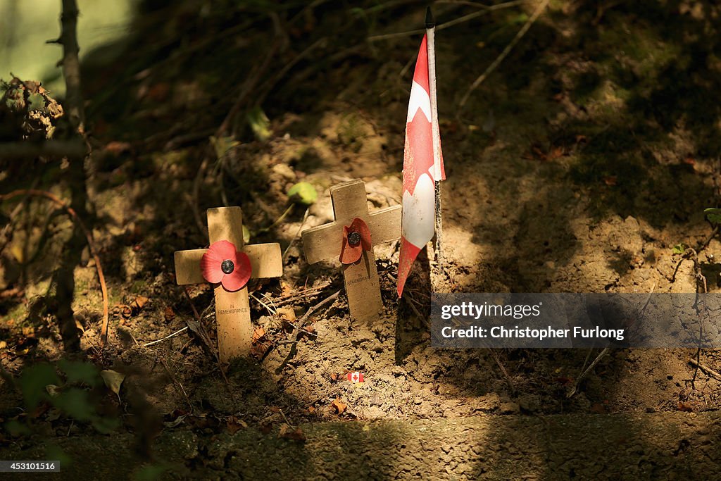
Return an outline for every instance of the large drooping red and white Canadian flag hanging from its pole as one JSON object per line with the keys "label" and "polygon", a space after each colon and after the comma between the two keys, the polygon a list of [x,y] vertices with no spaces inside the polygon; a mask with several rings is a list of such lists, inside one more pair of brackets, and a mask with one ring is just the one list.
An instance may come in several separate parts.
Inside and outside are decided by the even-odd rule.
{"label": "large drooping red and white Canadian flag hanging from its pole", "polygon": [[399,297],[403,294],[403,286],[418,252],[433,238],[435,231],[434,182],[446,179],[440,136],[437,137],[436,143],[439,162],[435,165],[433,162],[433,115],[430,103],[427,42],[428,36],[424,35],[415,63],[406,120],[401,252],[398,262],[397,286]]}

